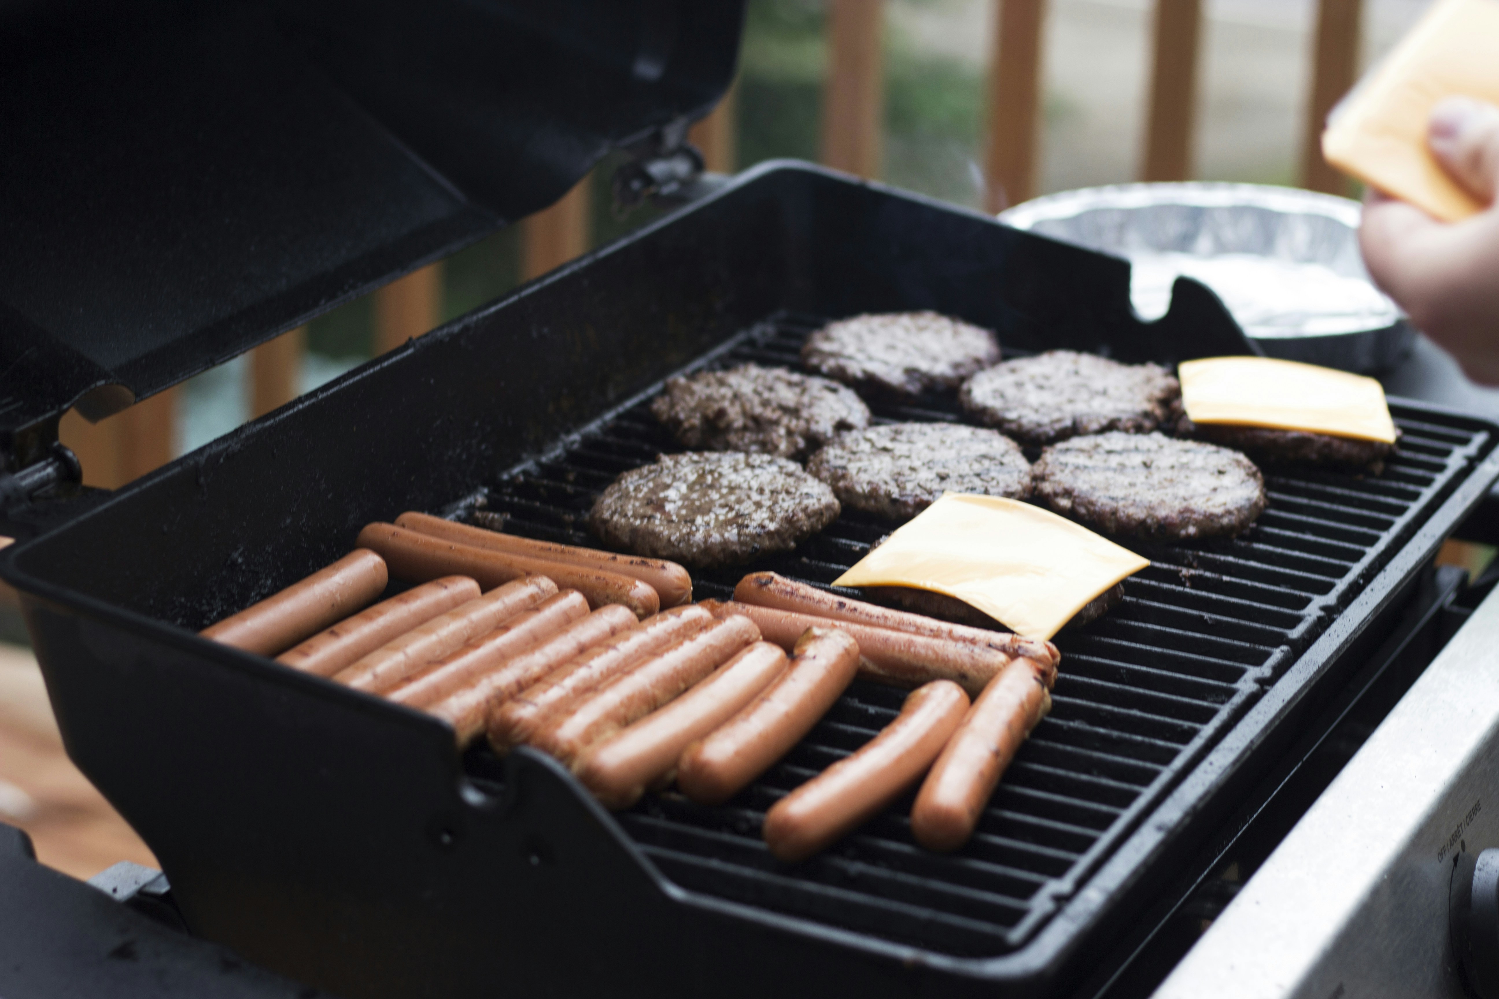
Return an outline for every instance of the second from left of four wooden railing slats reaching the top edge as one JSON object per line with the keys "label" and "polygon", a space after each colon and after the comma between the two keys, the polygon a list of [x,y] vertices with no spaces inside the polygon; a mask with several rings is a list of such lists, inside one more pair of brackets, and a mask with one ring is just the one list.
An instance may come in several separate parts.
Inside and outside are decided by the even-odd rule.
{"label": "second from left of four wooden railing slats reaching the top edge", "polygon": [[1046,0],[995,0],[995,6],[983,171],[988,211],[1036,196]]}

